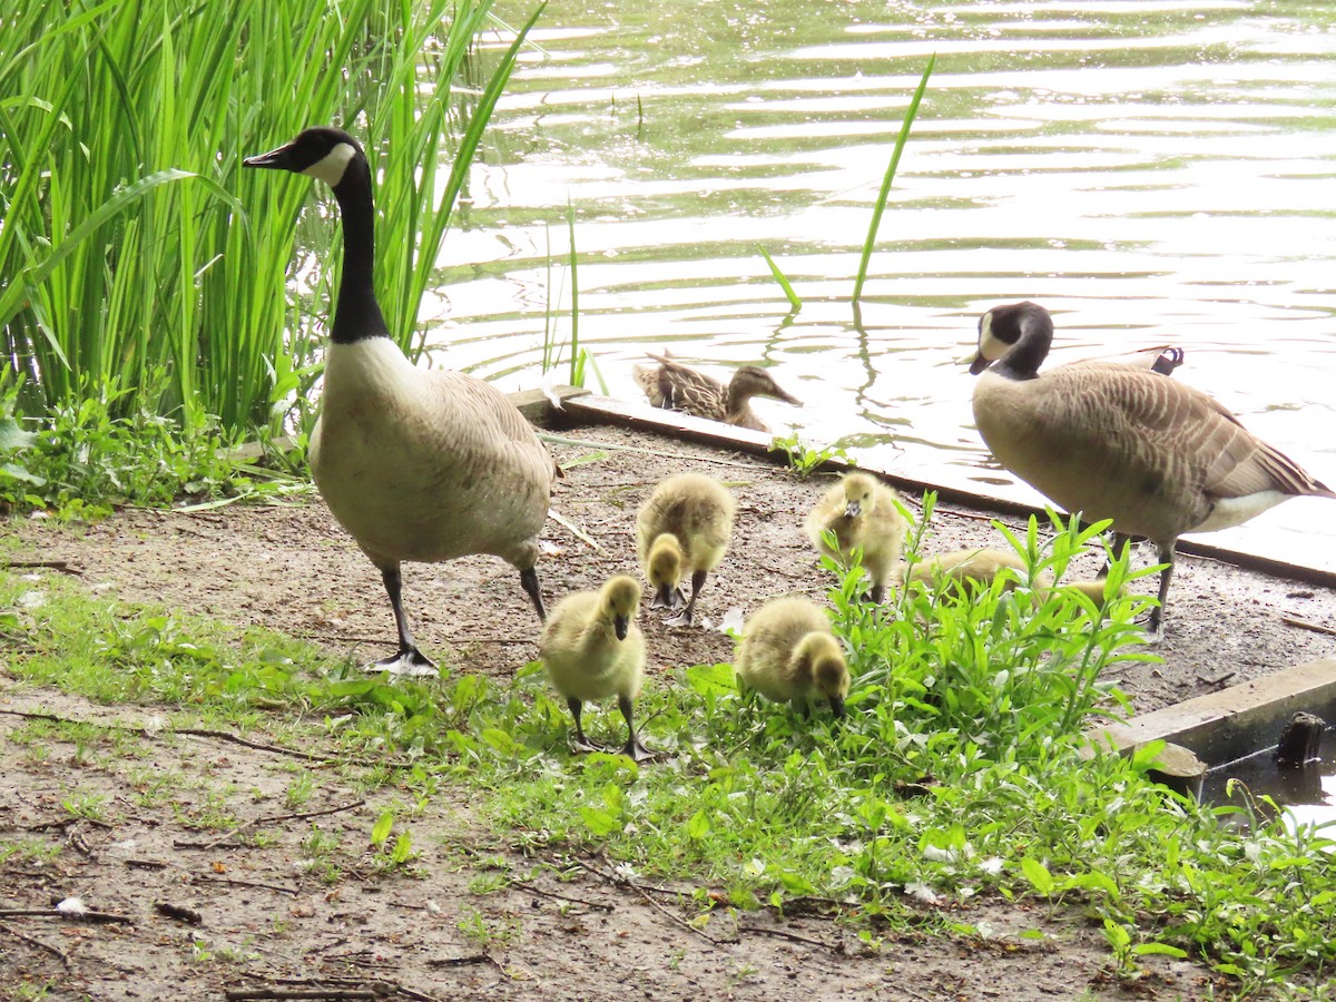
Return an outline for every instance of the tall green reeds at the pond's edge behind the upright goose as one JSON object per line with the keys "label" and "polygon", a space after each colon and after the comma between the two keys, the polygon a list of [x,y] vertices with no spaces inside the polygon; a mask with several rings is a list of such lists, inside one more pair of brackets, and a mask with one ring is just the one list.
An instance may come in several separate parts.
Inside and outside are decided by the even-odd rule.
{"label": "tall green reeds at the pond's edge behind the upright goose", "polygon": [[[329,195],[240,160],[310,124],[366,146],[377,287],[413,347],[468,164],[533,24],[484,56],[489,8],[76,0],[0,19],[0,331],[25,413],[98,397],[114,417],[239,434],[302,409],[339,246],[327,208],[306,208]],[[321,282],[299,295],[289,277],[313,261]]]}

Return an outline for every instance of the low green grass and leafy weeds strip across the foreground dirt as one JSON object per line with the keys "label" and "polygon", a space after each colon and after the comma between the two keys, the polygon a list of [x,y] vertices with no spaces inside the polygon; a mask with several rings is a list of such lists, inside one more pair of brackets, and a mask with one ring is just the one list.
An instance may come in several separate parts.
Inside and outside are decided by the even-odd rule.
{"label": "low green grass and leafy weeds strip across the foreground dirt", "polygon": [[[1014,538],[1026,580],[1061,577],[1093,544],[1075,526],[1050,534],[1031,525]],[[1101,615],[1022,581],[971,596],[915,585],[871,608],[854,600],[856,566],[827,570],[855,676],[848,716],[748,707],[731,665],[677,665],[637,704],[645,743],[668,754],[639,767],[568,754],[569,713],[537,664],[506,683],[446,673],[390,685],[309,645],[123,608],[71,584],[43,584],[47,601],[17,613],[3,643],[21,679],[179,707],[168,733],[200,721],[263,731],[341,759],[365,787],[393,784],[402,802],[367,831],[377,868],[411,872],[403,820],[464,784],[474,816],[534,858],[518,871],[596,852],[623,875],[684,880],[707,931],[739,908],[816,902],[870,942],[911,929],[970,937],[971,902],[1031,900],[1094,922],[1120,977],[1170,954],[1213,969],[1237,997],[1299,997],[1293,986],[1321,982],[1336,962],[1329,834],[1232,824],[1246,804],[1198,807],[1152,783],[1154,748],[1081,754],[1082,728],[1121,709],[1102,676],[1150,657],[1130,623],[1148,600],[1116,597]],[[1109,593],[1126,577],[1116,564]],[[31,587],[0,577],[0,608],[21,608]],[[585,724],[595,739],[624,737],[615,708],[591,707]],[[220,794],[183,810],[200,827],[228,824]],[[305,858],[337,883],[330,839],[313,828]],[[918,903],[930,898],[943,907]]]}

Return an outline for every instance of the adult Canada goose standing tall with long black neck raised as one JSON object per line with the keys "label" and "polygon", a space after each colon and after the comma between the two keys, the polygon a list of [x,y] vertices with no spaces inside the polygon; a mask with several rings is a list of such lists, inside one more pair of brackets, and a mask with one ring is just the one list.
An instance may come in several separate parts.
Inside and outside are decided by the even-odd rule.
{"label": "adult Canada goose standing tall with long black neck raised", "polygon": [[379,568],[394,609],[399,649],[367,667],[433,668],[403,613],[402,561],[498,556],[520,572],[541,620],[538,532],[560,472],[500,390],[417,369],[390,339],[371,287],[374,211],[362,147],[342,130],[309,128],[243,163],[323,180],[343,218],[343,274],[309,456],[321,494]]}

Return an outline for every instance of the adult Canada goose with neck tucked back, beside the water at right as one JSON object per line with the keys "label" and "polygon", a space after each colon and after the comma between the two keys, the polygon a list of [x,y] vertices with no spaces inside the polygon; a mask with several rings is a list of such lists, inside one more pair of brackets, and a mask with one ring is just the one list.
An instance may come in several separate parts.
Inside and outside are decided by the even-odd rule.
{"label": "adult Canada goose with neck tucked back, beside the water at right", "polygon": [[974,422],[1002,466],[1067,512],[1113,520],[1160,552],[1160,636],[1185,532],[1240,525],[1291,497],[1336,497],[1225,407],[1176,379],[1109,362],[1039,373],[1053,318],[1031,302],[994,306],[979,330],[1015,345],[974,386]]}

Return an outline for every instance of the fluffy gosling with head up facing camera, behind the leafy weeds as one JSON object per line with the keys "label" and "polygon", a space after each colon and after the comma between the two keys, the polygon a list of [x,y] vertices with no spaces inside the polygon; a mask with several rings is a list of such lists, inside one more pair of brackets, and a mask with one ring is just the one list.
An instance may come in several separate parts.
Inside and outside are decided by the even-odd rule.
{"label": "fluffy gosling with head up facing camera, behind the leafy weeds", "polygon": [[[851,550],[863,550],[874,603],[886,597],[886,585],[895,576],[904,548],[908,522],[899,504],[900,496],[876,477],[850,473],[820,497],[804,524],[812,545],[827,556],[847,561]],[[826,530],[835,533],[838,552],[822,538]]]}

